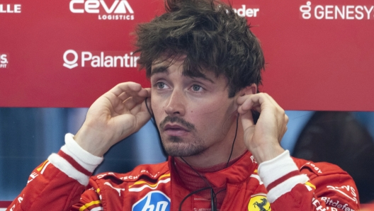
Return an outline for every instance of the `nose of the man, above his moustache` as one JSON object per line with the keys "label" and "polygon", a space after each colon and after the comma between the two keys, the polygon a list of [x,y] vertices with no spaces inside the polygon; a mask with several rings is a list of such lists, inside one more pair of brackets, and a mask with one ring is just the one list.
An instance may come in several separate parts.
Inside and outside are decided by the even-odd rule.
{"label": "nose of the man, above his moustache", "polygon": [[186,113],[185,107],[185,96],[183,91],[174,89],[169,96],[169,101],[167,102],[165,112],[169,116],[183,116]]}

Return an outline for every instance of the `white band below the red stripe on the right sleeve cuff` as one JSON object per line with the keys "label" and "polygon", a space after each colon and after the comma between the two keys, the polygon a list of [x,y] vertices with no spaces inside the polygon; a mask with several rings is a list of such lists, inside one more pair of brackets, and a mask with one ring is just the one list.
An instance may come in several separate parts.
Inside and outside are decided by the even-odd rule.
{"label": "white band below the red stripe on the right sleeve cuff", "polygon": [[266,198],[268,198],[269,203],[273,203],[281,195],[290,192],[292,190],[292,188],[295,187],[297,184],[299,184],[299,183],[304,184],[307,181],[309,181],[309,178],[305,174],[288,178],[283,183],[280,183],[280,184],[278,184],[278,186],[272,188],[268,192],[268,195],[266,196]]}

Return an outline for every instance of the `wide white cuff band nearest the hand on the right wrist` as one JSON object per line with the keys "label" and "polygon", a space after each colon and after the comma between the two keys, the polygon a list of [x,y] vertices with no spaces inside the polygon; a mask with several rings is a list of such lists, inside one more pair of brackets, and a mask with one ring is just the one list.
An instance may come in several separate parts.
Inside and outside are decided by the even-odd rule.
{"label": "wide white cuff band nearest the hand on the right wrist", "polygon": [[266,188],[270,183],[273,183],[273,181],[276,181],[278,178],[292,171],[299,171],[299,169],[291,158],[288,150],[285,150],[282,154],[269,161],[264,161],[259,165],[259,176]]}

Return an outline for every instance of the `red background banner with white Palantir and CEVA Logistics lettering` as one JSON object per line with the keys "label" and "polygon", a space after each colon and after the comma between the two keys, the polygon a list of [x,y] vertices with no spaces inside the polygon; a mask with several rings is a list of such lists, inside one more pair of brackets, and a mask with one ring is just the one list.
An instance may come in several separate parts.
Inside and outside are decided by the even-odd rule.
{"label": "red background banner with white Palantir and CEVA Logistics lettering", "polygon": [[[260,90],[285,110],[374,111],[373,1],[231,2],[261,40]],[[120,82],[149,86],[131,33],[163,12],[162,0],[1,0],[0,106],[89,107]]]}

